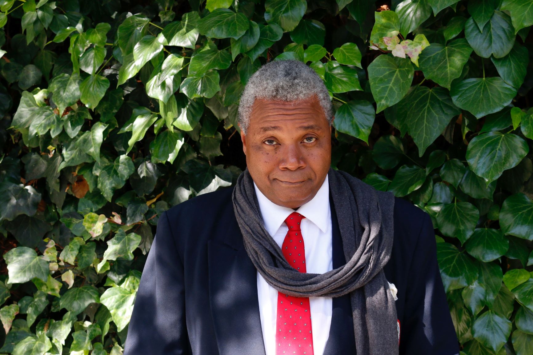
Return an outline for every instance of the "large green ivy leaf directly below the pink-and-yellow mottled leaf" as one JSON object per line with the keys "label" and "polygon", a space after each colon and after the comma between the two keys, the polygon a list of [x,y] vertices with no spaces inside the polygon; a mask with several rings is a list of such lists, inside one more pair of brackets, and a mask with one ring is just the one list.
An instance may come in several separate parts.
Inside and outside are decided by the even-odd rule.
{"label": "large green ivy leaf directly below the pink-and-yellow mottled leaf", "polygon": [[413,75],[413,65],[407,59],[379,55],[370,63],[368,81],[377,104],[376,114],[403,99],[411,87]]}

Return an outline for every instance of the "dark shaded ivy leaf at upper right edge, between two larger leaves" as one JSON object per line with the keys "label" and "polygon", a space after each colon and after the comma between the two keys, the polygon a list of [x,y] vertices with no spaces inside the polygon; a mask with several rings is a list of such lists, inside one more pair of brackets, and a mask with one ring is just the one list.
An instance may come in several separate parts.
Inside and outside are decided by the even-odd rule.
{"label": "dark shaded ivy leaf at upper right edge, between two larger leaves", "polygon": [[529,62],[529,54],[526,47],[515,42],[513,49],[505,57],[490,57],[490,60],[496,66],[500,77],[507,84],[517,89],[522,85]]}

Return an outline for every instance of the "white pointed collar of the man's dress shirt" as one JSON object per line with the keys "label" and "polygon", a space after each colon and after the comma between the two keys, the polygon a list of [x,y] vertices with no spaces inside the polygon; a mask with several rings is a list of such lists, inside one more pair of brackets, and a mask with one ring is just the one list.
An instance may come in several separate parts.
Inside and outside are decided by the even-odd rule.
{"label": "white pointed collar of the man's dress shirt", "polygon": [[[274,204],[263,195],[259,188],[257,188],[255,182],[254,189],[257,201],[259,202],[259,208],[261,209],[265,228],[270,235],[273,236],[284,223],[287,216],[294,212],[294,209]],[[327,175],[316,195],[314,195],[308,203],[300,206],[298,212],[314,223],[322,232],[326,232],[328,218],[330,218],[329,183]]]}

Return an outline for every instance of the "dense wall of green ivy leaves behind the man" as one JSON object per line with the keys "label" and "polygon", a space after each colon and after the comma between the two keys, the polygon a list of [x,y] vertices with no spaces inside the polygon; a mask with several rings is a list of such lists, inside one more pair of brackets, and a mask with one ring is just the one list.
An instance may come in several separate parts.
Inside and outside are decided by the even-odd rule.
{"label": "dense wall of green ivy leaves behind the man", "polygon": [[533,0],[0,0],[0,353],[122,354],[158,215],[299,59],[333,167],[432,217],[462,354],[533,354]]}

